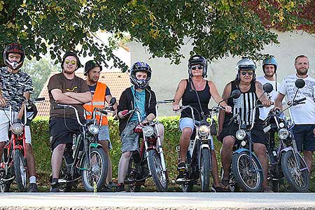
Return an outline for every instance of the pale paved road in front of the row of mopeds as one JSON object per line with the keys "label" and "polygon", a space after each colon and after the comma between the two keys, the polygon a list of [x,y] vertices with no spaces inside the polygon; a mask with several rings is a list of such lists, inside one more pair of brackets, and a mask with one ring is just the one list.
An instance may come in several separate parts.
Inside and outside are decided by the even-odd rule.
{"label": "pale paved road in front of the row of mopeds", "polygon": [[15,209],[315,209],[315,193],[3,193]]}

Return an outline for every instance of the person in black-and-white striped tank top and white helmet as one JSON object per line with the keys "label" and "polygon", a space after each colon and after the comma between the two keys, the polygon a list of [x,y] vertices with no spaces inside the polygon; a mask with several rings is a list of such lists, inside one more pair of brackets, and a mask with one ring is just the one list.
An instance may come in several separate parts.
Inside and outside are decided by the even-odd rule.
{"label": "person in black-and-white striped tank top and white helmet", "polygon": [[[236,132],[239,129],[239,125],[244,123],[247,127],[251,126],[251,117],[248,116],[252,116],[253,107],[256,106],[256,103],[261,102],[265,106],[270,106],[271,104],[262,90],[262,84],[255,81],[255,63],[251,59],[243,58],[237,62],[236,69],[237,78],[225,86],[223,99],[230,97],[231,92],[236,89],[241,91],[241,96],[237,99],[228,99],[228,105],[232,106],[233,112],[225,113],[221,111],[218,123],[218,139],[223,142],[221,161],[224,174],[221,182],[226,188],[228,188],[229,184],[233,147],[237,144]],[[237,114],[239,114],[239,117],[236,116]],[[255,124],[253,130],[251,130],[253,150],[262,165],[264,176],[264,181],[262,182],[263,192],[272,192],[267,183],[266,142],[262,132],[262,120],[258,116],[259,111],[254,116]]]}

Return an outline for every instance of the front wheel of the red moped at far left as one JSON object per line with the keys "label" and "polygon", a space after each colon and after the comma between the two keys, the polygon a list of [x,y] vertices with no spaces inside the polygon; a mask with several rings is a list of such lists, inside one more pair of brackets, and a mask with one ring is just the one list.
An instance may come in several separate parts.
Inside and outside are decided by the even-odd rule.
{"label": "front wheel of the red moped at far left", "polygon": [[13,153],[15,180],[20,192],[25,192],[27,190],[27,167],[23,163],[23,151],[15,149]]}

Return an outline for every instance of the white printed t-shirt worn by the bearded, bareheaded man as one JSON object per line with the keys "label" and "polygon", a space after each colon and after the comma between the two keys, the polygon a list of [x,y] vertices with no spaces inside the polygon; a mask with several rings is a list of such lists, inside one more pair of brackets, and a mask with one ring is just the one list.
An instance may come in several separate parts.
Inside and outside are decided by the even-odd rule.
{"label": "white printed t-shirt worn by the bearded, bareheaded man", "polygon": [[[295,87],[297,78],[294,74],[282,80],[279,92],[286,95],[287,102],[293,100],[297,91],[297,87]],[[298,90],[295,100],[306,97],[305,104],[298,104],[290,108],[292,118],[297,125],[315,124],[315,79],[309,76],[302,79],[305,81],[305,86]]]}

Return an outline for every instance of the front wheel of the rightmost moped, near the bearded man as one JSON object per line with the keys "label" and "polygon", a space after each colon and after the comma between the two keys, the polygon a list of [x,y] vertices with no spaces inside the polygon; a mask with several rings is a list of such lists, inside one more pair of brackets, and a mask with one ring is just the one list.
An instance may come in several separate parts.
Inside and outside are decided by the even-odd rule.
{"label": "front wheel of the rightmost moped, near the bearded man", "polygon": [[[307,167],[300,155],[297,155],[300,162],[300,169]],[[286,180],[291,188],[296,192],[307,192],[309,190],[309,172],[307,169],[302,172],[298,169],[293,151],[288,151],[281,158],[281,167]]]}

